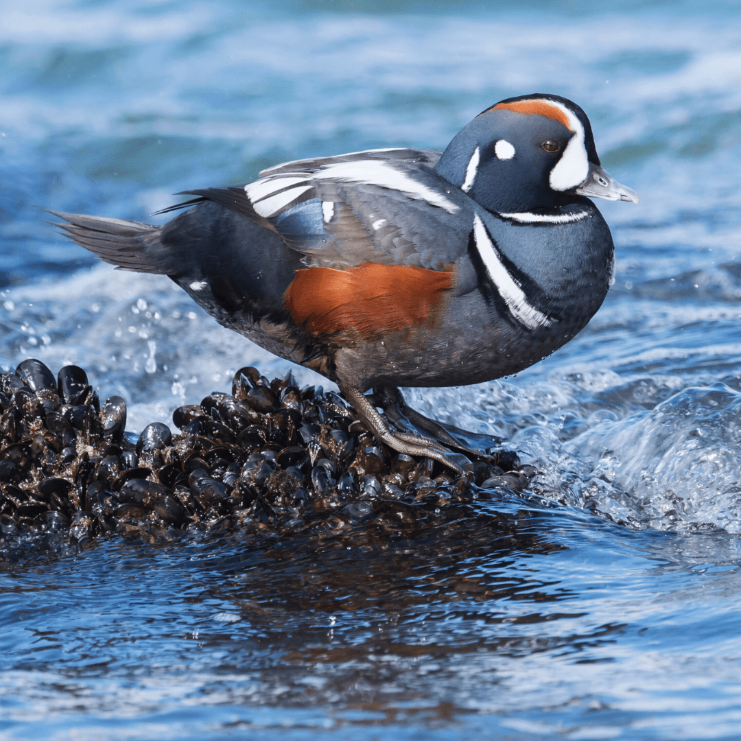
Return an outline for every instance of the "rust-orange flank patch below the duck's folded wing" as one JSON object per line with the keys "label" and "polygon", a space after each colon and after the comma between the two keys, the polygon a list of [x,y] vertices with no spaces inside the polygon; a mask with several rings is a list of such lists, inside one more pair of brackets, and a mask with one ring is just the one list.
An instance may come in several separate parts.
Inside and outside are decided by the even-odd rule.
{"label": "rust-orange flank patch below the duck's folded wing", "polygon": [[450,272],[365,262],[297,270],[285,293],[293,319],[313,335],[356,330],[370,338],[424,322],[451,288]]}

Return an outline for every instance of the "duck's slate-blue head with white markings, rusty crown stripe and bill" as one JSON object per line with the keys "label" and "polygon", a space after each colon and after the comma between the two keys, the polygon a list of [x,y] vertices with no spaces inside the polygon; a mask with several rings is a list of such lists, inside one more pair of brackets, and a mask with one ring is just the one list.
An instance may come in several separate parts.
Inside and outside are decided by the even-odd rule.
{"label": "duck's slate-blue head with white markings, rusty crown stripe and bill", "polygon": [[602,169],[584,111],[560,96],[508,98],[448,144],[436,171],[496,213],[557,207],[583,196],[638,202]]}

